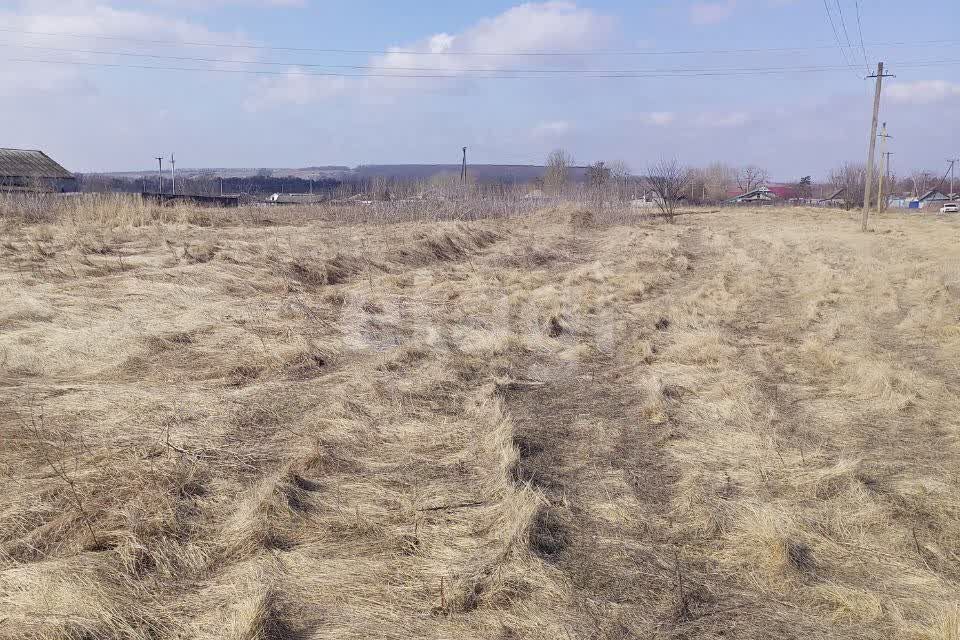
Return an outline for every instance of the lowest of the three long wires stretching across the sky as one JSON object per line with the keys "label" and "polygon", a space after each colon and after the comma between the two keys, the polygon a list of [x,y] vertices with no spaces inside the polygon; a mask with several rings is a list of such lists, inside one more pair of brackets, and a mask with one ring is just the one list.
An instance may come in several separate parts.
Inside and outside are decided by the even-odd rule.
{"label": "lowest of the three long wires stretching across the sky", "polygon": [[[118,64],[108,62],[83,62],[79,60],[36,60],[29,58],[7,58],[7,62],[25,63],[25,64],[49,64],[83,67],[101,67],[109,69],[144,69],[152,71],[186,71],[201,73],[226,73],[239,75],[258,75],[258,76],[312,76],[312,77],[334,77],[334,78],[398,78],[398,79],[446,79],[446,80],[546,80],[563,79],[564,76],[558,75],[497,75],[490,74],[485,76],[464,76],[458,74],[374,74],[374,73],[335,73],[335,72],[299,72],[296,70],[288,71],[267,71],[261,69],[216,69],[202,67],[174,67],[174,66],[154,66],[139,64]],[[935,60],[929,62],[917,62],[913,64],[901,65],[903,67],[929,67],[960,64],[960,60]],[[613,78],[701,78],[718,76],[758,76],[758,75],[776,75],[789,73],[825,73],[833,71],[847,71],[849,67],[790,67],[782,69],[764,69],[754,71],[703,71],[691,73],[587,73],[577,77],[593,79],[613,79]]]}

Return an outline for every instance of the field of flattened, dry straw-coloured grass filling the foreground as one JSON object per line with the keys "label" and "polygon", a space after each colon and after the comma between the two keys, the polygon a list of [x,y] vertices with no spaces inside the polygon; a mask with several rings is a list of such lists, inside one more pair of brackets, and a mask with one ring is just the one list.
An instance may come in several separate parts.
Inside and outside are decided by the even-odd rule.
{"label": "field of flattened, dry straw-coloured grass filling the foreground", "polygon": [[0,638],[960,638],[956,218],[47,218]]}

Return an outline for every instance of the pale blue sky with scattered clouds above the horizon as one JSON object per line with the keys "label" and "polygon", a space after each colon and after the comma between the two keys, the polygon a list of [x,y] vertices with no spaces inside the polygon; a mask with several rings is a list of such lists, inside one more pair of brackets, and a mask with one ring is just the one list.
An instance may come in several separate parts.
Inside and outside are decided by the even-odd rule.
{"label": "pale blue sky with scattered clouds above the horizon", "polygon": [[958,23],[956,0],[0,0],[0,147],[83,172],[563,148],[786,181],[865,160],[883,60],[894,171],[940,170]]}

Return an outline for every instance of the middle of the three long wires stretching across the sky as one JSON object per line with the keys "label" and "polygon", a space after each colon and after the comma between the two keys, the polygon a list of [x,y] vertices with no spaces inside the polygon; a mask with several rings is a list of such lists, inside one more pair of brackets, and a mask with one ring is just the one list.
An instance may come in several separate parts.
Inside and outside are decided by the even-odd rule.
{"label": "middle of the three long wires stretching across the sky", "polygon": [[[32,45],[18,45],[0,42],[0,47],[9,47],[15,49],[30,49],[34,51],[53,51],[58,53],[75,53],[75,54],[86,54],[86,55],[101,55],[101,56],[118,56],[118,57],[132,57],[132,58],[149,58],[156,60],[175,60],[178,62],[205,62],[205,63],[215,63],[215,64],[234,64],[234,65],[261,65],[261,66],[275,66],[275,67],[301,67],[301,68],[310,68],[310,69],[351,69],[351,70],[361,70],[361,71],[416,71],[416,72],[447,72],[451,75],[458,73],[488,73],[488,74],[501,74],[501,73],[528,73],[528,74],[565,74],[565,75],[582,75],[582,74],[648,74],[648,73],[709,73],[709,72],[721,72],[721,71],[794,71],[794,70],[803,70],[803,69],[828,69],[832,68],[831,66],[817,66],[817,65],[804,65],[804,66],[764,66],[764,67],[712,67],[712,68],[699,68],[699,67],[662,67],[662,68],[651,68],[651,69],[551,69],[551,68],[538,68],[538,69],[525,69],[525,68],[512,68],[512,69],[492,69],[492,68],[476,68],[476,67],[395,67],[395,66],[378,66],[378,65],[339,65],[339,64],[316,64],[308,62],[297,62],[297,61],[288,61],[288,62],[276,62],[276,61],[260,61],[260,60],[230,60],[227,58],[198,58],[193,56],[167,56],[159,55],[152,53],[135,53],[129,51],[103,51],[96,49],[69,49],[63,47],[36,47]],[[914,63],[927,63],[929,61],[913,61]],[[936,61],[934,61],[936,62]],[[910,64],[910,61],[901,63],[901,64]],[[843,67],[840,67],[843,68]]]}

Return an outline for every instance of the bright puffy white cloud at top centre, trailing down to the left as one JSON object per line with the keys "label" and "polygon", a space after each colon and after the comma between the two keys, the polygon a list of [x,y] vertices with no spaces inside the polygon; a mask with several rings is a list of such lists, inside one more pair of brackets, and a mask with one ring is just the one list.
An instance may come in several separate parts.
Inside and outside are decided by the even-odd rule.
{"label": "bright puffy white cloud at top centre, trailing down to the left", "polygon": [[[484,18],[461,33],[437,33],[410,45],[391,47],[385,54],[372,56],[367,63],[374,67],[369,78],[343,83],[304,83],[300,78],[285,76],[260,83],[257,91],[272,91],[282,96],[287,92],[285,84],[294,83],[298,88],[312,84],[316,88],[312,99],[319,101],[335,95],[336,92],[331,91],[332,87],[339,92],[396,92],[422,90],[426,82],[444,82],[435,78],[428,80],[410,76],[442,75],[460,80],[476,75],[522,69],[530,65],[570,67],[580,62],[562,57],[534,58],[515,54],[542,51],[577,52],[598,48],[610,41],[615,30],[613,18],[591,9],[580,8],[575,2],[553,0],[526,3],[512,7],[495,17]],[[456,55],[467,53],[483,55]],[[384,78],[376,77],[377,75],[400,77]],[[294,94],[298,101],[306,98],[296,91]],[[256,101],[248,101],[248,106],[255,103]],[[278,99],[272,104],[279,105],[282,101]]]}

